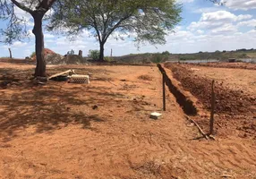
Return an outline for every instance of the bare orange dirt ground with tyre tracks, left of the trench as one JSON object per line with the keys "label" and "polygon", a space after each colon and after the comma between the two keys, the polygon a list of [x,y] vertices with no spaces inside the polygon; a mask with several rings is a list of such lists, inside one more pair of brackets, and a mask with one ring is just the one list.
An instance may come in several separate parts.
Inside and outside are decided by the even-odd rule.
{"label": "bare orange dirt ground with tyre tracks, left of the trench", "polygon": [[[170,93],[161,111],[157,67],[72,68],[90,72],[91,84],[0,90],[0,178],[256,177],[255,141],[194,140]],[[150,120],[153,111],[163,117]]]}

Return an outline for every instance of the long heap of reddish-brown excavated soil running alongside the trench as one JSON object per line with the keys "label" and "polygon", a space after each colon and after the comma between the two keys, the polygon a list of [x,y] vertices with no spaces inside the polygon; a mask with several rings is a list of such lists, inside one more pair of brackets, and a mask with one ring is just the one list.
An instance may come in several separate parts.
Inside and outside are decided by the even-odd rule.
{"label": "long heap of reddish-brown excavated soil running alongside the trench", "polygon": [[[189,90],[209,110],[211,98],[211,82],[207,78],[194,75],[191,70],[180,64],[165,64],[172,70],[176,80],[181,81],[185,90]],[[222,83],[215,83],[216,113],[226,115],[256,114],[256,99],[243,94],[240,90],[230,90]]]}

